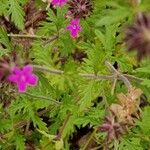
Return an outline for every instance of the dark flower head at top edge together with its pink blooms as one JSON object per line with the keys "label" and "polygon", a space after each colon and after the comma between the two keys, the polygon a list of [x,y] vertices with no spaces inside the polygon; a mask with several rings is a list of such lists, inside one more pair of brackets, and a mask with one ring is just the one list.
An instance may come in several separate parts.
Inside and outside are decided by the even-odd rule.
{"label": "dark flower head at top edge together with its pink blooms", "polygon": [[54,7],[62,7],[64,4],[68,4],[69,10],[65,16],[70,19],[70,24],[67,25],[66,30],[70,31],[72,38],[77,38],[79,32],[81,32],[79,18],[89,16],[92,10],[91,0],[47,0],[47,2],[49,5],[51,3]]}

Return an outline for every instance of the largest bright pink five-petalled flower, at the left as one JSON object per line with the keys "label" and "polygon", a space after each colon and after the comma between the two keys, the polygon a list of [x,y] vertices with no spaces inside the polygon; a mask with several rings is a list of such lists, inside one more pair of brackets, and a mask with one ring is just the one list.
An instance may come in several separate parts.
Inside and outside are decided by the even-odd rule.
{"label": "largest bright pink five-petalled flower, at the left", "polygon": [[22,69],[15,67],[12,74],[8,76],[8,80],[17,84],[18,91],[23,93],[27,86],[36,86],[38,77],[34,75],[33,68],[30,65],[24,66]]}

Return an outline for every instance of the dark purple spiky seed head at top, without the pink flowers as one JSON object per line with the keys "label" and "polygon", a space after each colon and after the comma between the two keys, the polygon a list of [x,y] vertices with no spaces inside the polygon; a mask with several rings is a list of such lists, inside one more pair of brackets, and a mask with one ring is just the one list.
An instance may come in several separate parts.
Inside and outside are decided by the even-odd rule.
{"label": "dark purple spiky seed head at top, without the pink flowers", "polygon": [[93,9],[92,0],[70,0],[68,5],[69,11],[66,14],[68,18],[86,18]]}

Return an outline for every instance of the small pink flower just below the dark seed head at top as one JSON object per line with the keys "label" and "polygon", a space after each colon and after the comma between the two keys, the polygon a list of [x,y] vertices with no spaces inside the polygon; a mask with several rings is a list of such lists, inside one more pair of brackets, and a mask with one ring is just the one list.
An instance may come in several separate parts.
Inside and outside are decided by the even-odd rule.
{"label": "small pink flower just below the dark seed head at top", "polygon": [[80,20],[79,19],[72,19],[70,24],[66,27],[66,30],[70,30],[70,35],[72,38],[76,38],[78,33],[81,32],[80,27]]}

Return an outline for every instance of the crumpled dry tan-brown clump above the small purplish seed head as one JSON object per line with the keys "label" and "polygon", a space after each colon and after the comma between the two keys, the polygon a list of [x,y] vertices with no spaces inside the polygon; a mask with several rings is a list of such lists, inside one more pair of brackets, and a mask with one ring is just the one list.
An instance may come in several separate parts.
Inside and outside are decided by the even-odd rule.
{"label": "crumpled dry tan-brown clump above the small purplish seed head", "polygon": [[137,100],[142,94],[141,89],[133,88],[127,95],[120,93],[117,95],[119,104],[112,104],[110,111],[117,117],[119,122],[133,125],[135,118],[138,118],[140,102]]}

